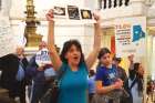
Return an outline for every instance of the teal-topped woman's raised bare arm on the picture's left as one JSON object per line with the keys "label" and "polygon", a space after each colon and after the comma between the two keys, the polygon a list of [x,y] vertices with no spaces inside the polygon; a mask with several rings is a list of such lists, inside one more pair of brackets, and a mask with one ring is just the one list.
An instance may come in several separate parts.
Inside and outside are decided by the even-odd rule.
{"label": "teal-topped woman's raised bare arm on the picture's left", "polygon": [[48,34],[48,48],[50,51],[50,58],[53,63],[53,68],[59,70],[62,65],[62,61],[54,47],[54,21],[53,21],[53,10],[46,13],[46,20],[49,21],[49,34]]}

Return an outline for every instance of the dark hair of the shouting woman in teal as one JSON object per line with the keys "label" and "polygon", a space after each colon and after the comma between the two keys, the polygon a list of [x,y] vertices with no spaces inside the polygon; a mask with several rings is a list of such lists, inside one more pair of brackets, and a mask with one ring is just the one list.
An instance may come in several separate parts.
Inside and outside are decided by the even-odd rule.
{"label": "dark hair of the shouting woman in teal", "polygon": [[65,59],[65,54],[71,49],[72,45],[75,45],[81,52],[81,59],[80,59],[80,64],[81,64],[82,62],[84,62],[84,55],[83,55],[83,52],[82,52],[81,44],[80,44],[80,42],[78,40],[69,40],[69,41],[66,41],[63,44],[63,49],[61,51],[60,58],[61,58],[62,62],[68,63],[68,60]]}

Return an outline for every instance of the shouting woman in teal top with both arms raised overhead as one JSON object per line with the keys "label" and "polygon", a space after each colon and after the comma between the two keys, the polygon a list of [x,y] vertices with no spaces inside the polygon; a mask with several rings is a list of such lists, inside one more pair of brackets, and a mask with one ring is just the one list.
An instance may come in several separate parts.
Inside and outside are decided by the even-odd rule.
{"label": "shouting woman in teal top with both arms raised overhead", "polygon": [[59,56],[54,47],[53,10],[50,10],[46,14],[49,21],[48,42],[53,68],[56,71],[65,69],[60,82],[59,103],[86,103],[86,69],[91,69],[96,60],[101,44],[100,18],[97,14],[94,18],[96,20],[96,23],[94,23],[94,47],[89,58],[84,61],[81,44],[76,40],[66,41],[63,45],[61,56]]}

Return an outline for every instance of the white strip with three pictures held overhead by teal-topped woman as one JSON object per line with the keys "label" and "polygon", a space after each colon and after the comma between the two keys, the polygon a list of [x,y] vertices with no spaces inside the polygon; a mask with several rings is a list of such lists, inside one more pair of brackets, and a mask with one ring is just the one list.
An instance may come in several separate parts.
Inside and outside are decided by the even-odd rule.
{"label": "white strip with three pictures held overhead by teal-topped woman", "polygon": [[78,6],[53,6],[54,20],[78,23],[94,23],[93,12]]}

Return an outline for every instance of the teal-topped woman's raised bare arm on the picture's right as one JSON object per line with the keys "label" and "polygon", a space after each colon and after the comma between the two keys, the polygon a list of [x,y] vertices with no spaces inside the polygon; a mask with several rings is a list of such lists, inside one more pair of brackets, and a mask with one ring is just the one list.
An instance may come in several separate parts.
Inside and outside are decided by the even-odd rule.
{"label": "teal-topped woman's raised bare arm on the picture's right", "polygon": [[96,22],[94,23],[94,45],[93,51],[89,54],[86,59],[87,69],[91,69],[91,66],[94,64],[101,47],[101,18],[97,14],[94,14],[94,19],[96,20]]}

